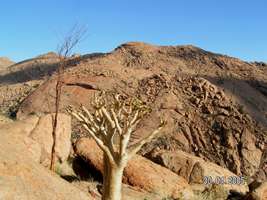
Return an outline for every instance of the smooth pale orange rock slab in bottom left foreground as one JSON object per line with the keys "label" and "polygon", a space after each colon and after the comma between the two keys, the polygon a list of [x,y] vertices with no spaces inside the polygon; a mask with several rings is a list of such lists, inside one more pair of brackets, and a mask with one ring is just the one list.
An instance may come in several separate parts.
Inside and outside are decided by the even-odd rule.
{"label": "smooth pale orange rock slab in bottom left foreground", "polygon": [[[37,122],[38,118],[33,121]],[[22,131],[27,129],[21,128]],[[0,128],[0,199],[92,199],[36,163],[19,130],[14,128],[9,132]]]}

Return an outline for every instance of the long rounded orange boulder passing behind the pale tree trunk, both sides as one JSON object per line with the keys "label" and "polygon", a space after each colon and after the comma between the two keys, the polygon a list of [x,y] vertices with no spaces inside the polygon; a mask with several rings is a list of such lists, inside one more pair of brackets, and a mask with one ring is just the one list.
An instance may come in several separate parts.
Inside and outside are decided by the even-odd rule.
{"label": "long rounded orange boulder passing behind the pale tree trunk, both sides", "polygon": [[[103,153],[93,139],[81,138],[75,151],[103,174]],[[192,197],[192,191],[182,177],[138,155],[128,162],[123,182],[163,197]]]}

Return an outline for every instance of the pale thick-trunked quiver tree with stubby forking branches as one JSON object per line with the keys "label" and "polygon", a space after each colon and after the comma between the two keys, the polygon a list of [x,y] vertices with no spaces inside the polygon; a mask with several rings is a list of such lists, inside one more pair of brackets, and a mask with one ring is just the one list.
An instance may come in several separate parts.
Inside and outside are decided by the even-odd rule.
{"label": "pale thick-trunked quiver tree with stubby forking branches", "polygon": [[[104,152],[103,200],[120,200],[123,170],[141,147],[151,141],[166,124],[160,125],[138,142],[129,144],[136,126],[149,113],[141,101],[132,98],[123,100],[121,95],[101,92],[93,100],[94,112],[84,106],[80,110],[72,107],[68,112],[78,120]],[[90,148],[90,147],[88,147]]]}

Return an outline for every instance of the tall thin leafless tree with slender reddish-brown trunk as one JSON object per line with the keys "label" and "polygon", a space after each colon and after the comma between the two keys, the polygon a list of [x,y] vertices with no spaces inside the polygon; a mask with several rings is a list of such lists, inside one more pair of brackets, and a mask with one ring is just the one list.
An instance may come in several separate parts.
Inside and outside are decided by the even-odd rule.
{"label": "tall thin leafless tree with slender reddish-brown trunk", "polygon": [[58,113],[61,102],[61,92],[62,87],[64,85],[63,75],[64,71],[68,65],[69,57],[72,54],[73,48],[84,38],[87,29],[85,27],[80,27],[78,25],[74,25],[67,36],[64,38],[61,45],[58,47],[58,55],[59,55],[59,66],[57,68],[57,77],[56,77],[56,95],[55,95],[55,115],[52,120],[52,136],[53,136],[53,144],[51,151],[51,162],[50,162],[50,170],[55,171],[55,162],[56,162],[56,145],[57,145],[57,137],[56,130],[58,125]]}

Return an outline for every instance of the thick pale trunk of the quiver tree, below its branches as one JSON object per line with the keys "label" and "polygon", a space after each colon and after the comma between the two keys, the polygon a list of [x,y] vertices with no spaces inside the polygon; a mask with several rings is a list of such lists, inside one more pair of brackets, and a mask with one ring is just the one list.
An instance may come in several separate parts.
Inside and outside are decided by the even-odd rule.
{"label": "thick pale trunk of the quiver tree, below its branches", "polygon": [[123,166],[112,165],[104,156],[102,200],[121,200]]}

